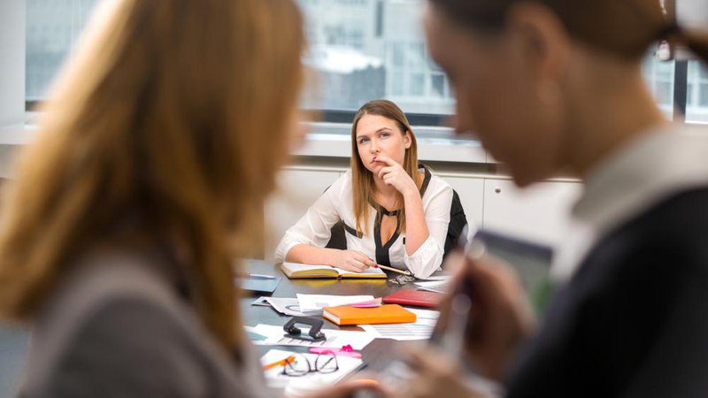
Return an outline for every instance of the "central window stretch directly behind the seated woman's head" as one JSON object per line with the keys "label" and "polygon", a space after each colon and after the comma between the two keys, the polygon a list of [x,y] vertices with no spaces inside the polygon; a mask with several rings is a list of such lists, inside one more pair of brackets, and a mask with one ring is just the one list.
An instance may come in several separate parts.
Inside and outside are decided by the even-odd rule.
{"label": "central window stretch directly behind the seated woman's head", "polygon": [[[319,75],[305,108],[353,114],[373,98],[407,113],[447,115],[454,100],[443,72],[427,56],[419,23],[423,0],[299,0]],[[326,115],[327,117],[327,112]]]}

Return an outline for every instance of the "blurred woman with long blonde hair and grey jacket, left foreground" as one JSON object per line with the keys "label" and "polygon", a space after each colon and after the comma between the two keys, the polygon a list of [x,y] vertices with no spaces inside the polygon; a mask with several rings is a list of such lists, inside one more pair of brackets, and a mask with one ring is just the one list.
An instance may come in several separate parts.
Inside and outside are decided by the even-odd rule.
{"label": "blurred woman with long blonde hair and grey jacket, left foreground", "polygon": [[103,5],[6,192],[0,314],[33,332],[20,395],[265,396],[232,264],[296,129],[301,15]]}

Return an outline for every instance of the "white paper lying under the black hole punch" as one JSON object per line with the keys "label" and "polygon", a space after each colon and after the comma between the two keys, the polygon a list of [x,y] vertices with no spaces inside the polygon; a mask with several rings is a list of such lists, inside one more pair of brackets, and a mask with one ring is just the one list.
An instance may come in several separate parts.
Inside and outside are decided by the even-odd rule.
{"label": "white paper lying under the black hole punch", "polygon": [[[302,327],[300,329],[305,335],[307,335],[307,332],[310,330]],[[350,344],[351,348],[359,350],[365,348],[376,337],[372,333],[323,329],[322,333],[325,333],[325,336],[327,336],[327,340],[304,341],[285,337],[285,331],[282,330],[282,326],[278,325],[259,324],[247,330],[253,333],[258,333],[260,335],[266,336],[265,340],[251,341],[253,344],[259,346],[280,345],[296,347],[342,348],[342,346]]]}

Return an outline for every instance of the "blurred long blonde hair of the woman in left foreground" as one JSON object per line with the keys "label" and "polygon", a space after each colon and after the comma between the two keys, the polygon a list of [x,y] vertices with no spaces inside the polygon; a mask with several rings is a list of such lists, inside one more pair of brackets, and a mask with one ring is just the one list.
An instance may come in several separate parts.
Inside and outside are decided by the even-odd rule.
{"label": "blurred long blonde hair of the woman in left foreground", "polygon": [[4,198],[0,315],[31,318],[92,246],[171,240],[189,251],[207,329],[237,348],[231,264],[287,158],[300,12],[292,0],[116,0],[86,37]]}

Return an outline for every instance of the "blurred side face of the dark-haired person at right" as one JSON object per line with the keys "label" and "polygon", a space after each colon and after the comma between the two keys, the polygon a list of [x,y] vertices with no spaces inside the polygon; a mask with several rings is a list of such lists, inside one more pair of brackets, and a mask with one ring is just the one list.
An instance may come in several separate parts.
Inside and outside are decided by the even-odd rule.
{"label": "blurred side face of the dark-haired person at right", "polygon": [[518,34],[477,34],[435,5],[427,7],[425,27],[431,56],[457,96],[455,130],[476,134],[519,186],[557,171],[563,140],[554,93],[544,103]]}

